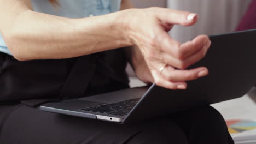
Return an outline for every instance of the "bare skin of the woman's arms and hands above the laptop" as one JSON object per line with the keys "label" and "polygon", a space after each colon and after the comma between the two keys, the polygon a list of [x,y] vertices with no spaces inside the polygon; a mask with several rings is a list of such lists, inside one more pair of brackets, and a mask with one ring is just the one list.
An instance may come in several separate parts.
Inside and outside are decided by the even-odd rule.
{"label": "bare skin of the woman's arms and hands above the laptop", "polygon": [[185,81],[208,74],[204,67],[186,69],[206,55],[211,45],[207,35],[182,44],[167,33],[173,25],[194,25],[196,14],[155,7],[132,9],[130,1],[123,0],[123,10],[116,13],[69,19],[34,12],[30,0],[0,0],[0,4],[0,32],[19,61],[71,58],[127,47],[127,58],[146,83],[185,89]]}

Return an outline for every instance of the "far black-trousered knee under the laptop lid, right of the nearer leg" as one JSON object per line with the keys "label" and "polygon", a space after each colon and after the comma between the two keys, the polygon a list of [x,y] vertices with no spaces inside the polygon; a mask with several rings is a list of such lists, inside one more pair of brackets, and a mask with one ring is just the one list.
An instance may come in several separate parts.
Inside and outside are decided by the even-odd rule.
{"label": "far black-trousered knee under the laptop lid, right of the nearer leg", "polygon": [[201,106],[172,117],[191,144],[234,143],[222,115],[211,106]]}

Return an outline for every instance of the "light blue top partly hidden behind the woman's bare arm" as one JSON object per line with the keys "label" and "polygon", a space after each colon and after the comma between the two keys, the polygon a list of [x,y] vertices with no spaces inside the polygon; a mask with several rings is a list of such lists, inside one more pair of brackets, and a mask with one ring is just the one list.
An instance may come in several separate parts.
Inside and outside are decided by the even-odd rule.
{"label": "light blue top partly hidden behind the woman's bare arm", "polygon": [[[61,7],[54,9],[47,0],[31,0],[34,11],[69,18],[83,18],[113,13],[120,9],[121,0],[59,0]],[[0,34],[0,52],[11,55]]]}

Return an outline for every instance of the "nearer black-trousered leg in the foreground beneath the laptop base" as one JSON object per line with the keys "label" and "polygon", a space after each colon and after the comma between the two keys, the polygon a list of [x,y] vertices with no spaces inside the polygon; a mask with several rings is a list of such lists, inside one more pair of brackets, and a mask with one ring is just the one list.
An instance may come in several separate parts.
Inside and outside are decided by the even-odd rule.
{"label": "nearer black-trousered leg in the foreground beneath the laptop base", "polygon": [[56,113],[20,104],[2,128],[0,143],[188,143],[170,118],[122,125]]}

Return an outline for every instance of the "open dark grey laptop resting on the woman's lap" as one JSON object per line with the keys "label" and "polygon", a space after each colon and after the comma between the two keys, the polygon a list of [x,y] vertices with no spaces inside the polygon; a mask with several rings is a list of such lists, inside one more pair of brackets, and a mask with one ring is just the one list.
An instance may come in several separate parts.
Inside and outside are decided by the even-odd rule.
{"label": "open dark grey laptop resting on the woman's lap", "polygon": [[256,83],[256,29],[211,35],[207,55],[191,68],[210,74],[189,81],[186,90],[151,86],[48,103],[40,110],[123,124],[183,112],[242,97]]}

